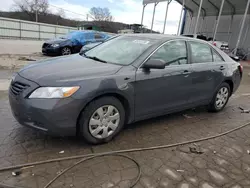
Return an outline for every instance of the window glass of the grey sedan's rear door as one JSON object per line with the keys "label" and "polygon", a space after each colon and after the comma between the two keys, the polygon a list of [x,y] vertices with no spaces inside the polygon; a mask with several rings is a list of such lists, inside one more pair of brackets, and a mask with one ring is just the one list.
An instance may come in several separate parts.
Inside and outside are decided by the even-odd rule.
{"label": "window glass of the grey sedan's rear door", "polygon": [[211,48],[207,44],[199,42],[189,42],[192,53],[192,63],[213,62]]}

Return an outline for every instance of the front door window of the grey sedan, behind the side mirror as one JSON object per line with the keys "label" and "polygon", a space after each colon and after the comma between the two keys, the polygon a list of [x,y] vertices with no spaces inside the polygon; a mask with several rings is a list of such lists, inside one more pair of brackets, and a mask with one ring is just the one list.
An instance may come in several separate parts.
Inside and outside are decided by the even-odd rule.
{"label": "front door window of the grey sedan, behind the side mirror", "polygon": [[171,41],[159,48],[150,59],[161,59],[167,65],[187,64],[185,41]]}

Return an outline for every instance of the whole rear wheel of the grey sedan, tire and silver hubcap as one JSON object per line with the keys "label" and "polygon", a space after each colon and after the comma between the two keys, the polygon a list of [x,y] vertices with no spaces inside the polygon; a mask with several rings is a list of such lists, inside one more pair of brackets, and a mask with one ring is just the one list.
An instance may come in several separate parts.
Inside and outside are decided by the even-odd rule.
{"label": "whole rear wheel of the grey sedan, tire and silver hubcap", "polygon": [[229,100],[230,93],[231,90],[228,83],[222,83],[208,107],[209,111],[219,112],[223,110]]}

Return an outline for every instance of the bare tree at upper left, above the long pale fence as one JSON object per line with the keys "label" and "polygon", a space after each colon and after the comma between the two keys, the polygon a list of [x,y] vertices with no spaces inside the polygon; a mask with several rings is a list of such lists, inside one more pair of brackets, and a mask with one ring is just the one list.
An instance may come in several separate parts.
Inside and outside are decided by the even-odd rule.
{"label": "bare tree at upper left, above the long pale fence", "polygon": [[15,0],[14,7],[17,11],[25,12],[30,17],[38,14],[47,14],[49,12],[48,0]]}

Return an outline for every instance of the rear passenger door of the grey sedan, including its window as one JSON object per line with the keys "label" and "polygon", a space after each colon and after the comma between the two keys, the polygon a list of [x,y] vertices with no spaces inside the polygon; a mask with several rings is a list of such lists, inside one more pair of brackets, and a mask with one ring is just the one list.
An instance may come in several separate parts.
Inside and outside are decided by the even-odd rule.
{"label": "rear passenger door of the grey sedan, including its window", "polygon": [[188,41],[193,72],[190,102],[203,104],[212,99],[214,91],[224,79],[226,65],[222,57],[209,45]]}

